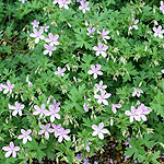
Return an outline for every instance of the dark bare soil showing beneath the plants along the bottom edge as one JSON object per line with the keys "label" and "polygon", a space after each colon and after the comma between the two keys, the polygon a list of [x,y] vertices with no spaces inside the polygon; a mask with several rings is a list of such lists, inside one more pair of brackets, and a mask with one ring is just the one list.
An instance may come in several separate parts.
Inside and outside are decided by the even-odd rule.
{"label": "dark bare soil showing beneath the plants along the bottom edge", "polygon": [[[122,143],[118,147],[119,143],[115,142],[113,138],[106,138],[107,145],[104,147],[104,152],[101,154],[101,152],[95,153],[94,156],[89,157],[90,164],[133,164],[134,161],[128,156],[124,156],[124,152],[126,150],[126,144]],[[118,148],[121,148],[121,150],[118,150]],[[97,162],[97,163],[96,163]],[[160,157],[159,162],[161,164],[164,164],[164,157]],[[84,162],[82,162],[83,164]],[[89,164],[84,163],[84,164]],[[38,163],[37,161],[34,161],[33,164],[57,164],[56,160],[49,161],[48,159],[44,159],[42,163]],[[68,164],[66,162],[60,161],[59,164]],[[137,163],[141,164],[141,163]]]}

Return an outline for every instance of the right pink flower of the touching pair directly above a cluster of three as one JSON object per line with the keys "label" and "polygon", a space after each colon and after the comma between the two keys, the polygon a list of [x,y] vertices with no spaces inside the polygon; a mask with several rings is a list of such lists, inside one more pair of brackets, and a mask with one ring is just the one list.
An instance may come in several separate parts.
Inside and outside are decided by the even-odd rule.
{"label": "right pink flower of the touching pair directly above a cluster of three", "polygon": [[55,118],[60,119],[60,115],[58,112],[60,110],[60,107],[55,107],[54,105],[49,105],[49,115],[50,115],[50,121],[54,122]]}

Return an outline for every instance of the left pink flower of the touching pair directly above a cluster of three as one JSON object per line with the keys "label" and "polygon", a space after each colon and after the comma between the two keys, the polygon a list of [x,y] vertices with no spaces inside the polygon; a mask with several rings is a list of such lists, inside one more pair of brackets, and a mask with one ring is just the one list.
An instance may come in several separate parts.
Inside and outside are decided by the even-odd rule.
{"label": "left pink flower of the touching pair directly above a cluster of three", "polygon": [[34,108],[36,109],[35,112],[33,112],[33,115],[39,115],[39,118],[42,118],[44,115],[49,116],[49,112],[47,109],[45,109],[45,104],[43,104],[40,107],[37,105],[34,105]]}

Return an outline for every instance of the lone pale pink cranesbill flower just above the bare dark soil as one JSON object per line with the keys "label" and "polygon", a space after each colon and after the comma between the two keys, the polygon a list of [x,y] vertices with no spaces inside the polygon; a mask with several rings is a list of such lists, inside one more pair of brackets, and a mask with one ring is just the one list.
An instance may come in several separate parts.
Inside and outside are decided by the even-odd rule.
{"label": "lone pale pink cranesbill flower just above the bare dark soil", "polygon": [[101,122],[98,126],[93,125],[92,129],[95,130],[95,131],[93,131],[92,136],[97,136],[98,134],[98,138],[101,140],[103,140],[104,139],[104,134],[103,133],[109,133],[109,131],[107,129],[103,129],[103,127],[104,127],[103,122]]}

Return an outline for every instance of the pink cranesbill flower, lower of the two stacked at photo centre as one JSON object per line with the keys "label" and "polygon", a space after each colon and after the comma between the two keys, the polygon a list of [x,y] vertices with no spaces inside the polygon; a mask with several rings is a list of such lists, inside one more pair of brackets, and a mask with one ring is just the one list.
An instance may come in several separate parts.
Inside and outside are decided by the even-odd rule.
{"label": "pink cranesbill flower, lower of the two stacked at photo centre", "polygon": [[112,94],[110,93],[106,93],[105,91],[101,92],[101,95],[95,94],[94,97],[97,98],[97,103],[98,104],[104,104],[104,105],[108,105],[108,102],[106,101],[106,98],[110,97]]}

